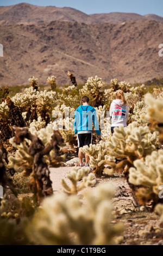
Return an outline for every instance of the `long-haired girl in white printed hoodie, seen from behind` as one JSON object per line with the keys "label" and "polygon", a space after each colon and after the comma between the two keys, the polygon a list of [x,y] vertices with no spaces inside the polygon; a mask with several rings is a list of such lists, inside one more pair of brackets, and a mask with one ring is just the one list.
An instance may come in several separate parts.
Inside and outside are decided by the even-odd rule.
{"label": "long-haired girl in white printed hoodie, seen from behind", "polygon": [[110,105],[111,133],[114,132],[114,127],[127,126],[128,111],[123,91],[117,90],[116,99]]}

